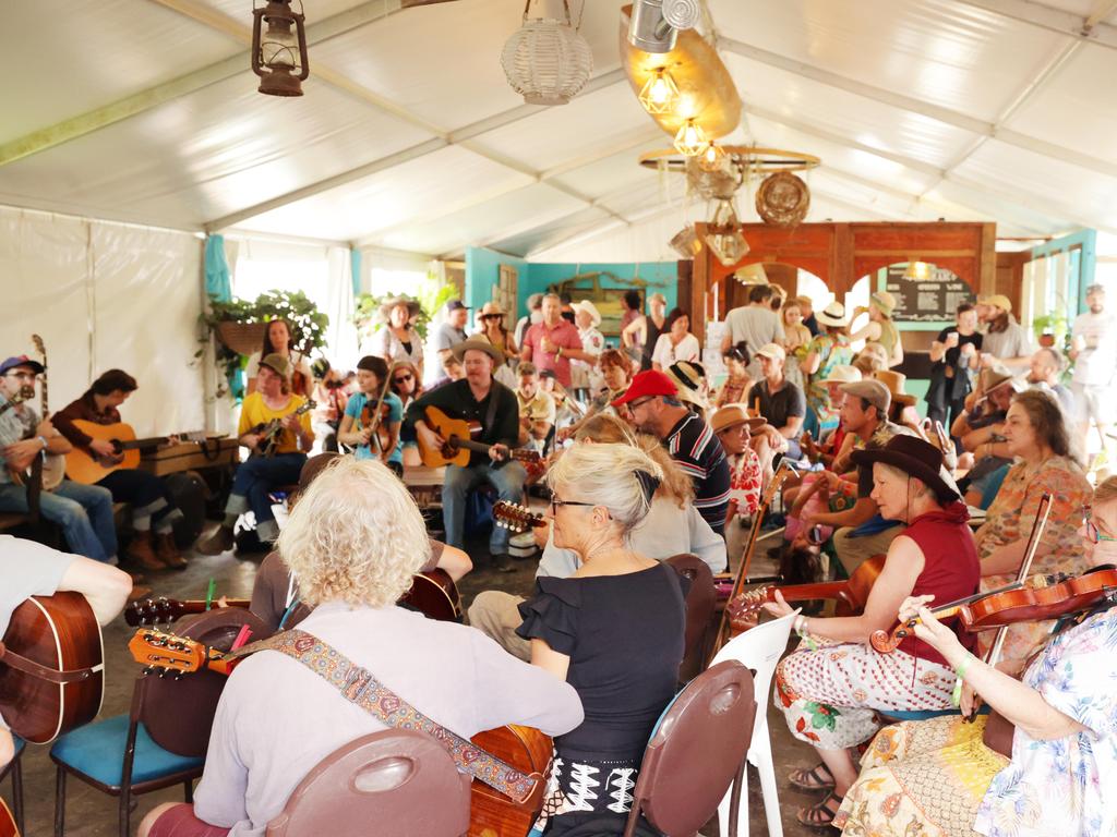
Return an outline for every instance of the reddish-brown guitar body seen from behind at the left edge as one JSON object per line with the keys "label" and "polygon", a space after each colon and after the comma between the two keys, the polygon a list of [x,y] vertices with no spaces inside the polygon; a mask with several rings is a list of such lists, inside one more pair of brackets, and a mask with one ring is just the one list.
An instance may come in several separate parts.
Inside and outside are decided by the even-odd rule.
{"label": "reddish-brown guitar body seen from behind at the left edge", "polygon": [[32,596],[0,643],[0,714],[20,738],[47,744],[88,723],[104,698],[97,617],[79,593]]}

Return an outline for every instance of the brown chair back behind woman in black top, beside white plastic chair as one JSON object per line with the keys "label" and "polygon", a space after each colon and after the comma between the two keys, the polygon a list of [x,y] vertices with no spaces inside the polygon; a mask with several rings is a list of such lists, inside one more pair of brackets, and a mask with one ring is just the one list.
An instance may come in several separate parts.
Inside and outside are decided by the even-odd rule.
{"label": "brown chair back behind woman in black top, beside white plastic chair", "polygon": [[641,814],[663,834],[697,834],[731,786],[735,833],[755,715],[753,674],[741,663],[718,663],[695,677],[648,742],[624,837],[636,833]]}

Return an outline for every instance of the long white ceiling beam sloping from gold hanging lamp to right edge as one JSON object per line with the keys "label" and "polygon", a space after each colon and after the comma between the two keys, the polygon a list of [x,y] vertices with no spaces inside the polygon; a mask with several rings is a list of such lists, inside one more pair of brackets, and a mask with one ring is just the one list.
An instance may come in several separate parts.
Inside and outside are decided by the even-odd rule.
{"label": "long white ceiling beam sloping from gold hanging lamp to right edge", "polygon": [[1056,145],[1054,143],[1027,136],[1016,131],[999,128],[991,122],[978,119],[977,117],[968,116],[967,114],[963,114],[957,110],[952,110],[948,107],[942,107],[941,105],[935,105],[929,102],[925,102],[924,99],[906,96],[901,93],[894,93],[892,90],[886,90],[882,87],[875,87],[873,85],[868,85],[863,81],[847,78],[846,76],[841,76],[837,73],[831,73],[830,70],[824,70],[820,67],[804,64],[803,61],[796,61],[793,58],[776,55],[775,52],[770,52],[766,49],[761,49],[760,47],[754,47],[750,44],[734,40],[733,38],[719,38],[717,45],[719,48],[726,49],[744,58],[758,61],[760,64],[764,64],[770,67],[775,67],[776,69],[781,69],[795,76],[809,78],[813,81],[818,81],[819,84],[827,85],[828,87],[846,90],[847,93],[860,96],[861,98],[879,102],[903,110],[909,110],[910,113],[926,116],[945,125],[953,125],[954,127],[962,128],[963,131],[970,131],[974,134],[981,134],[983,136],[999,140],[1009,145],[1014,145],[1035,154],[1042,154],[1054,160],[1060,160],[1065,163],[1081,166],[1092,172],[1099,172],[1117,177],[1117,163],[1108,160],[1101,160],[1100,157],[1095,157],[1089,154],[1082,154],[1081,152],[1067,148],[1062,145]]}

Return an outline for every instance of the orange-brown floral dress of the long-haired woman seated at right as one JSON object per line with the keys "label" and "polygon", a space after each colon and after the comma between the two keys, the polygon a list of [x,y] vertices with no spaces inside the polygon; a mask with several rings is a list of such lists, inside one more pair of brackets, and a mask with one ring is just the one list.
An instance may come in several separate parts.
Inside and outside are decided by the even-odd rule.
{"label": "orange-brown floral dress of the long-haired woman seated at right", "polygon": [[[975,535],[982,560],[997,547],[1027,540],[1044,492],[1051,494],[1051,514],[1029,575],[1079,575],[1089,568],[1082,555],[1078,528],[1082,522],[1082,507],[1089,504],[1092,490],[1082,469],[1066,456],[1053,456],[1039,466],[1020,462],[1009,469],[1001,490],[989,507],[985,523]],[[981,581],[982,591],[1015,580],[1015,574],[986,576]],[[1013,625],[1005,636],[1002,658],[1022,660],[1029,656],[1051,632],[1051,622]],[[983,643],[992,642],[993,635],[993,632],[986,632],[981,638]]]}

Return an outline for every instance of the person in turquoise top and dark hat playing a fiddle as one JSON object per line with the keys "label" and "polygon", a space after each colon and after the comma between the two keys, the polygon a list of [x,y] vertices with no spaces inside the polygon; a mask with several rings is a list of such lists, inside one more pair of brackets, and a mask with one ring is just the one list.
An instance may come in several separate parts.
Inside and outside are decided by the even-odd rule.
{"label": "person in turquoise top and dark hat playing a fiddle", "polygon": [[402,477],[400,422],[403,403],[388,389],[391,383],[388,362],[374,355],[362,357],[356,365],[356,383],[361,391],[345,405],[337,441],[355,448],[357,459],[379,459],[397,477]]}

